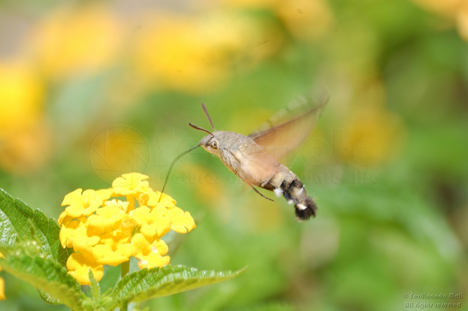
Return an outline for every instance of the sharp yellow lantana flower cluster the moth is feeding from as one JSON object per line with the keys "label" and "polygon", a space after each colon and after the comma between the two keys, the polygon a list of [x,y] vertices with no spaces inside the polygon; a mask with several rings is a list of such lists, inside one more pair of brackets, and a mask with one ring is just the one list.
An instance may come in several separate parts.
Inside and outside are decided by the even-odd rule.
{"label": "sharp yellow lantana flower cluster the moth is feeding from", "polygon": [[60,243],[73,247],[66,268],[81,285],[90,284],[89,269],[100,281],[103,265],[117,266],[132,256],[139,259],[139,268],[167,265],[168,246],[162,236],[196,227],[189,212],[176,207],[169,195],[149,188],[146,179],[139,173],[123,174],[112,188],[76,189],[65,195],[66,208],[58,220]]}

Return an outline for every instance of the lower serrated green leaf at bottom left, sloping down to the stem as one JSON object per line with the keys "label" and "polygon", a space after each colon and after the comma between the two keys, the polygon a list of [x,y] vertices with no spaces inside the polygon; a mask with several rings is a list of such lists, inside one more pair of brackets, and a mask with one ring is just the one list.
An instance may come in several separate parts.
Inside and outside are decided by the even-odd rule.
{"label": "lower serrated green leaf at bottom left, sloping down to the stem", "polygon": [[39,256],[7,255],[5,259],[0,258],[0,266],[72,310],[81,310],[81,302],[86,297],[81,292],[80,284],[53,260]]}

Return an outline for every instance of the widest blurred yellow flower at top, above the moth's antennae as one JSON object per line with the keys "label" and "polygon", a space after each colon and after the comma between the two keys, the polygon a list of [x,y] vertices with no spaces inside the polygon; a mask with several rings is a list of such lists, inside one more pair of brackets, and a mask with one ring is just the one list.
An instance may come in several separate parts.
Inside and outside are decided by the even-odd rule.
{"label": "widest blurred yellow flower at top, above the moth's antennae", "polygon": [[159,87],[190,93],[221,86],[234,66],[256,63],[281,42],[269,25],[240,14],[166,14],[152,20],[136,44],[137,70]]}

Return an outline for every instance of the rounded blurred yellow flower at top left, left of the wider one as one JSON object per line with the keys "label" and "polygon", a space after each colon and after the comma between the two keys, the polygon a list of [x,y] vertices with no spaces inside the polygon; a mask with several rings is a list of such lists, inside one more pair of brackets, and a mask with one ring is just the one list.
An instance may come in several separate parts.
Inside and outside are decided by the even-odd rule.
{"label": "rounded blurred yellow flower at top left, left of the wider one", "polygon": [[88,6],[46,16],[37,45],[44,72],[63,77],[110,65],[121,39],[121,28],[110,10]]}

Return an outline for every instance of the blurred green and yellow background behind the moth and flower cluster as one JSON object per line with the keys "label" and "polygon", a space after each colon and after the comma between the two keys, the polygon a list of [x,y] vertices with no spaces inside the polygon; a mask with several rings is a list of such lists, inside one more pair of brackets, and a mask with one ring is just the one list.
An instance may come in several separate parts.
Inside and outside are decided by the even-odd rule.
{"label": "blurred green and yellow background behind the moth and flower cluster", "polygon": [[[161,190],[209,128],[248,133],[312,85],[330,101],[285,164],[297,223],[201,148],[166,193],[197,229],[172,264],[249,268],[154,311],[402,310],[468,298],[468,1],[2,0],[0,187],[49,217],[121,173]],[[264,192],[272,197],[272,193]],[[1,310],[66,310],[4,271]],[[465,299],[462,309],[468,310]],[[454,302],[454,300],[444,302]]]}

